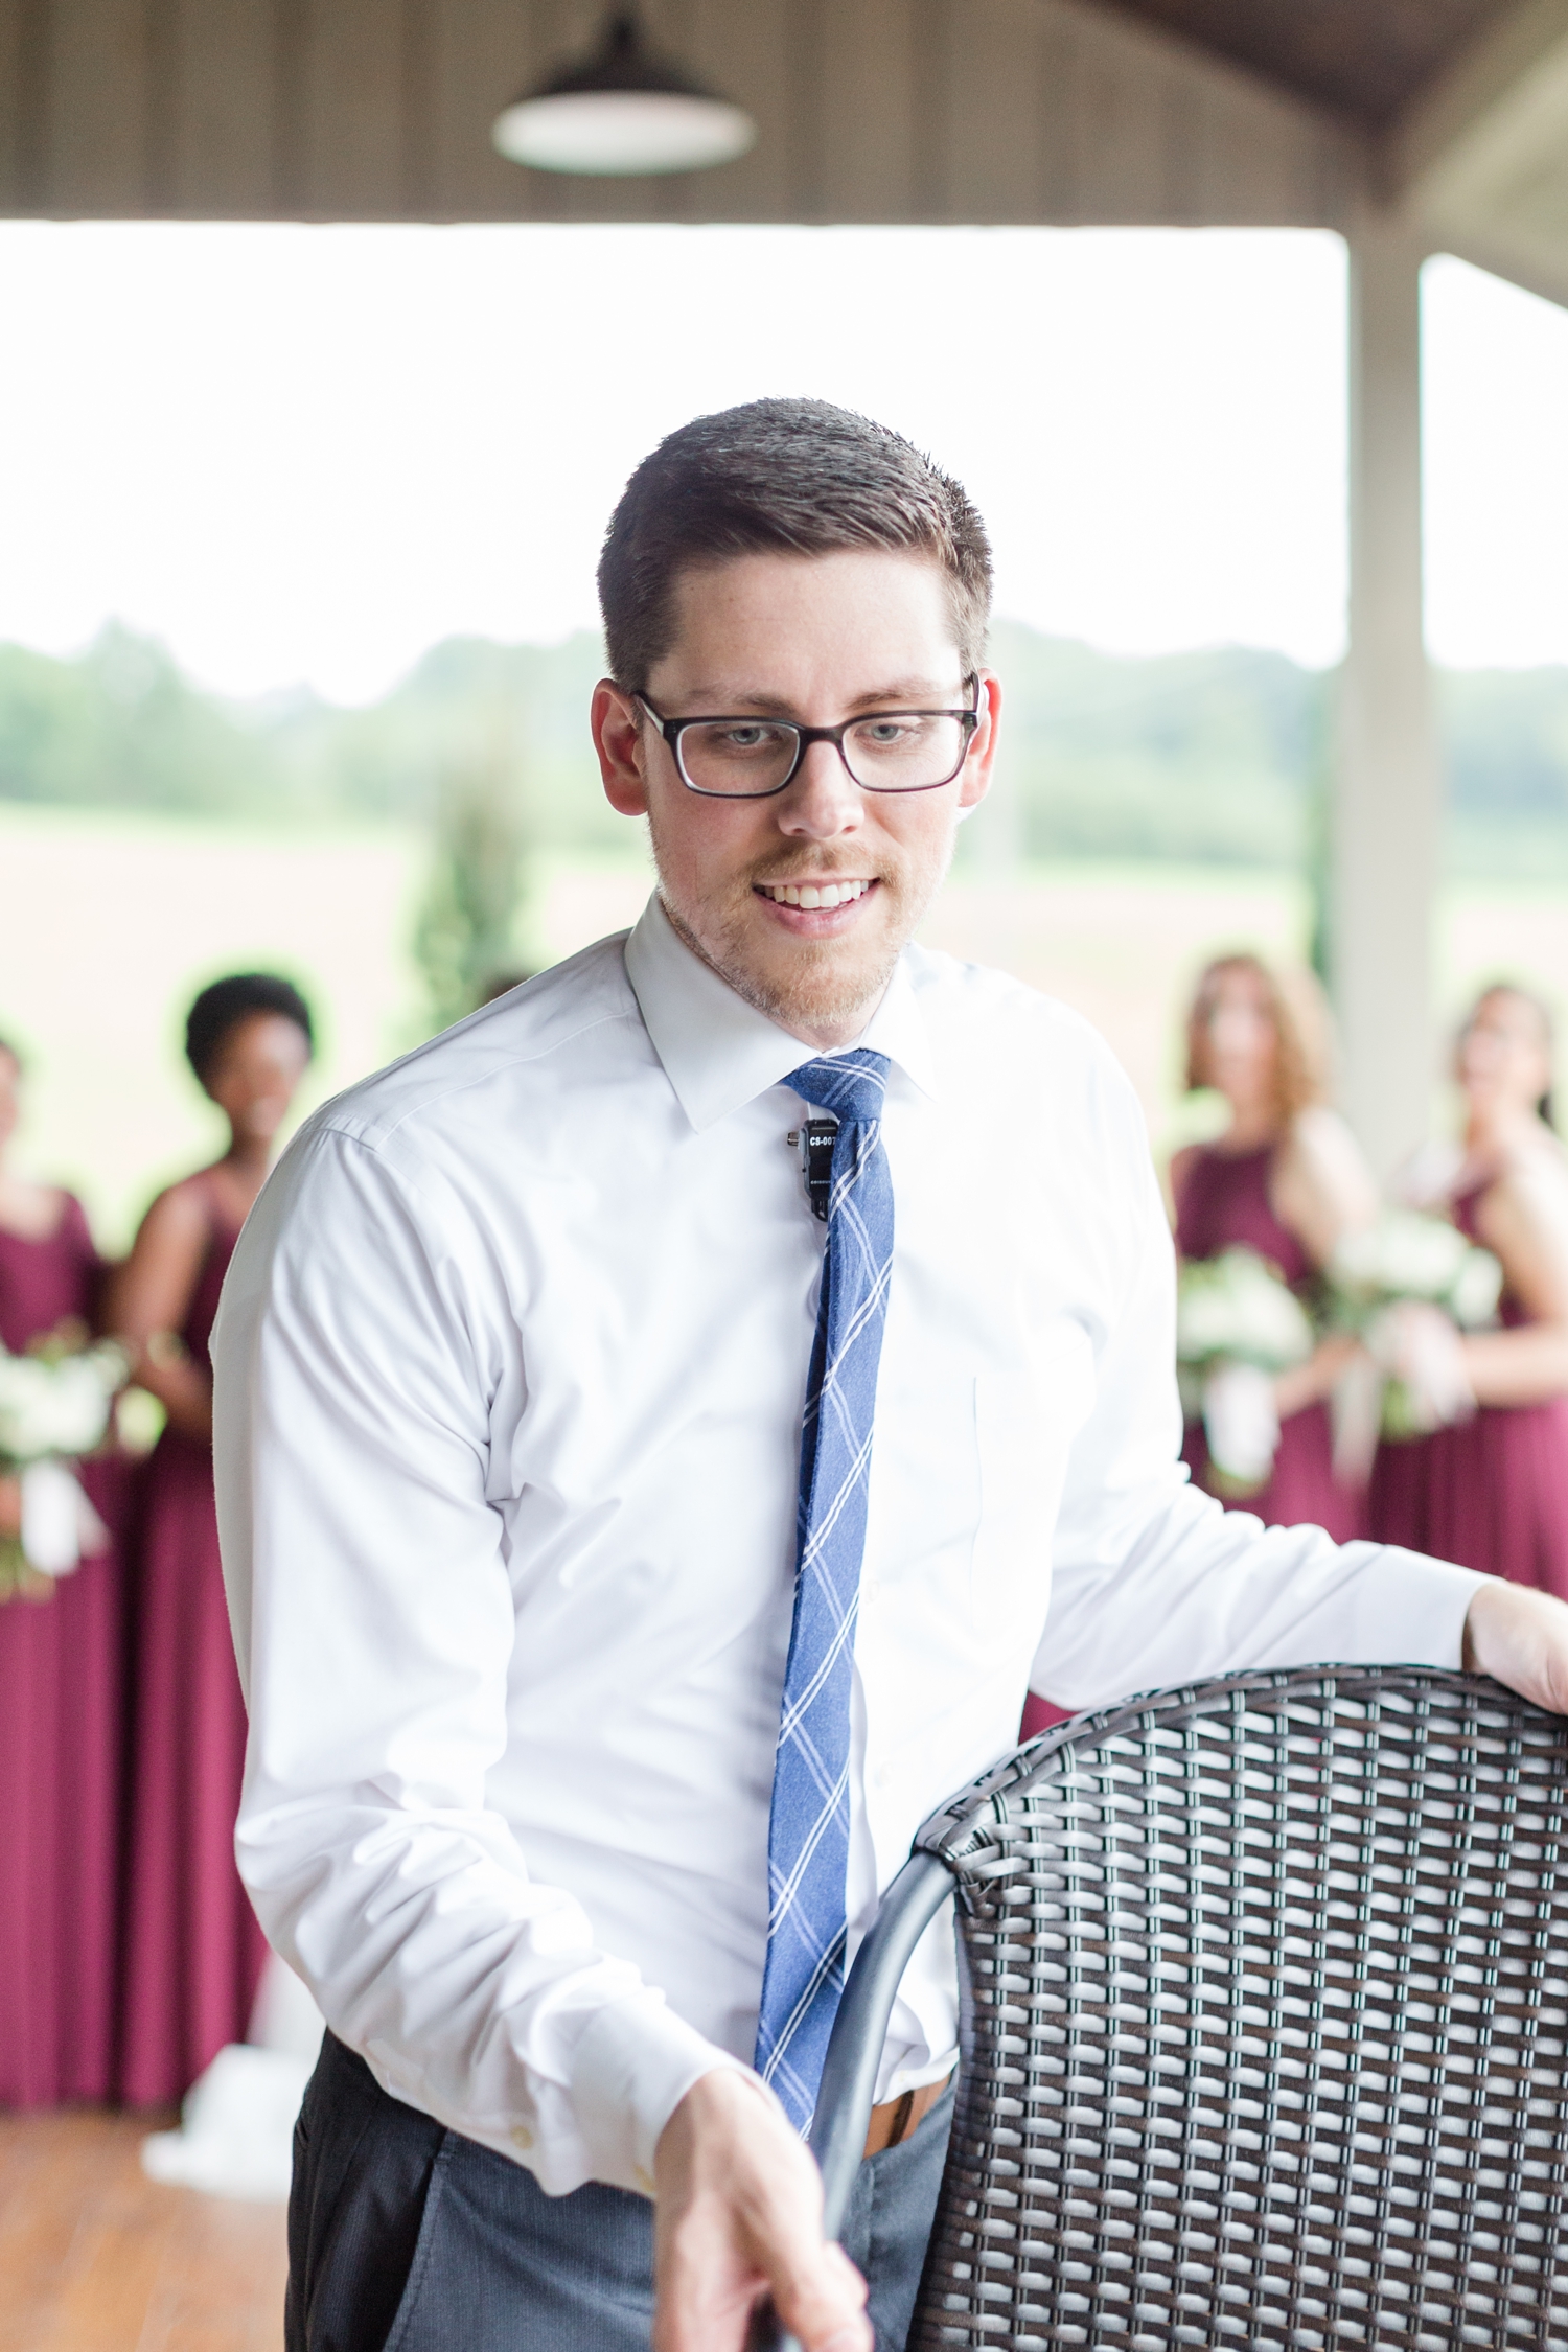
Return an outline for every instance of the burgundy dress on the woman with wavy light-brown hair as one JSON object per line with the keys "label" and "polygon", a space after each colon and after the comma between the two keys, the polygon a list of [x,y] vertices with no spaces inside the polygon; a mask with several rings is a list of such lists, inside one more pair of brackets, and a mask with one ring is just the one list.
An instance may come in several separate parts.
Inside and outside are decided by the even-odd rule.
{"label": "burgundy dress on the woman with wavy light-brown hair", "polygon": [[[1293,1291],[1312,1282],[1314,1265],[1269,1204],[1274,1145],[1222,1152],[1206,1145],[1187,1167],[1175,1202],[1175,1247],[1182,1258],[1218,1258],[1222,1249],[1255,1249]],[[1197,1486],[1208,1489],[1204,1423],[1190,1421],[1182,1461]],[[1265,1526],[1324,1526],[1335,1543],[1361,1534],[1359,1498],[1333,1475],[1333,1428],[1326,1404],[1307,1404],[1279,1425],[1279,1451],[1267,1486],[1234,1505]]]}

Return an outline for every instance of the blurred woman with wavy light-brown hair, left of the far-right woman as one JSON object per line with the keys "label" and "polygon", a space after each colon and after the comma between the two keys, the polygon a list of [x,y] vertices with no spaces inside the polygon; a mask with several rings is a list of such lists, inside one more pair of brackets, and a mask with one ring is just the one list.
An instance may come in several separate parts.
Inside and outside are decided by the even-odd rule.
{"label": "blurred woman with wavy light-brown hair, left of the far-right woman", "polygon": [[[1340,1237],[1371,1223],[1378,1192],[1349,1129],[1324,1103],[1321,1063],[1260,957],[1225,955],[1208,964],[1187,1016],[1187,1089],[1222,1094],[1229,1124],[1215,1143],[1192,1143],[1171,1162],[1182,1258],[1253,1249],[1293,1291],[1309,1294]],[[1349,1341],[1324,1341],[1274,1381],[1274,1470],[1239,1505],[1269,1526],[1312,1522],[1340,1543],[1361,1534],[1359,1496],[1333,1475],[1326,1404],[1349,1355]],[[1208,1486],[1201,1423],[1187,1423],[1182,1461]]]}

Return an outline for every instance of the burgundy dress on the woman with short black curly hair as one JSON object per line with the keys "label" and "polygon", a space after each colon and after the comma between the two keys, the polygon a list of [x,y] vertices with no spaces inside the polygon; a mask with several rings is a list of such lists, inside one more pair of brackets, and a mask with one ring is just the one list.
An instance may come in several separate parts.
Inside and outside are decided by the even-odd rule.
{"label": "burgundy dress on the woman with short black curly hair", "polygon": [[[181,1338],[207,1341],[240,1240],[207,1188],[209,1240]],[[235,1870],[244,1703],[228,1632],[212,1446],[167,1428],[132,1543],[132,1773],[120,2093],[181,2098],[249,2025],[266,1943]]]}

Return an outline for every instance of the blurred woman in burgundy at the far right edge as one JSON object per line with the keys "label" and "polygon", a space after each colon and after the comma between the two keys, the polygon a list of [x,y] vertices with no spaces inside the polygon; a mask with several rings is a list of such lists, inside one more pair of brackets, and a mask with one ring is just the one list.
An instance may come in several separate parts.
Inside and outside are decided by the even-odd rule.
{"label": "blurred woman in burgundy at the far right edge", "polygon": [[[1488,988],[1460,1033],[1465,1145],[1427,1162],[1415,1204],[1446,1211],[1502,1265],[1500,1331],[1427,1317],[1474,1411],[1378,1446],[1371,1534],[1568,1599],[1568,1155],[1552,1134],[1552,1016]],[[1418,1162],[1420,1176],[1420,1162]]]}

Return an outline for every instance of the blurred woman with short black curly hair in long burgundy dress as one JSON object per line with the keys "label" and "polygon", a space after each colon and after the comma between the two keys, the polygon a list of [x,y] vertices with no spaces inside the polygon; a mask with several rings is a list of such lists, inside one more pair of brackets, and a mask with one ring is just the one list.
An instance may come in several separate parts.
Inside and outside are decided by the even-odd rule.
{"label": "blurred woman with short black curly hair in long burgundy dress", "polygon": [[132,1552],[132,1776],[120,2093],[183,2096],[242,2042],[266,1945],[235,1870],[244,1705],[212,1496],[207,1341],[240,1225],[310,1061],[289,981],[240,974],[190,1007],[186,1056],[228,1120],[223,1157],[148,1209],[115,1282],[113,1327],[169,1416]]}

